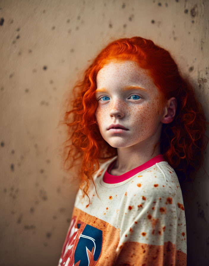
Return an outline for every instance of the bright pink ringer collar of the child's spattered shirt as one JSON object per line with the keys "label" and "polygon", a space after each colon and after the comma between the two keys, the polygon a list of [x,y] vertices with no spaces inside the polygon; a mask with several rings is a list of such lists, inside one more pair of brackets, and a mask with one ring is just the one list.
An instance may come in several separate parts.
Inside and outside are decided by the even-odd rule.
{"label": "bright pink ringer collar of the child's spattered shirt", "polygon": [[145,162],[144,164],[124,173],[123,175],[111,175],[111,174],[109,174],[109,172],[112,169],[113,165],[115,164],[116,159],[107,167],[107,170],[105,171],[105,174],[103,177],[103,181],[105,183],[108,183],[108,184],[120,183],[120,182],[132,177],[133,175],[153,166],[156,163],[165,161],[163,154],[159,154],[159,155],[153,157],[152,159],[150,159],[149,161]]}

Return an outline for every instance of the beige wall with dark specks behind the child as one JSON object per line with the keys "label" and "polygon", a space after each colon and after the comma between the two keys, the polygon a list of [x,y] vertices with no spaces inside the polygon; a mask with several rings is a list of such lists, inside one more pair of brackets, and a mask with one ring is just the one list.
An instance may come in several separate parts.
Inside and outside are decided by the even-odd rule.
{"label": "beige wall with dark specks behind the child", "polygon": [[[209,118],[208,16],[207,0],[0,1],[0,265],[58,263],[77,192],[61,169],[58,122],[66,92],[110,40],[168,49]],[[209,261],[208,189],[205,174],[186,208],[189,265]]]}

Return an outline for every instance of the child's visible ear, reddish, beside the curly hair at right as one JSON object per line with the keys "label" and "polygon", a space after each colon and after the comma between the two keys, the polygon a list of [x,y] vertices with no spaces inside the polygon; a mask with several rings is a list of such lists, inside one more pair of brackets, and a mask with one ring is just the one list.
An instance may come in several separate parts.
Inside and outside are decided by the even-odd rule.
{"label": "child's visible ear, reddish, beside the curly hair at right", "polygon": [[175,97],[172,97],[169,100],[167,100],[160,121],[164,124],[171,123],[176,113],[176,107],[177,107],[177,100]]}

